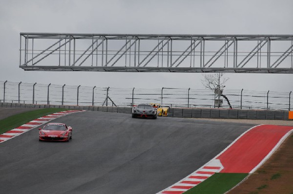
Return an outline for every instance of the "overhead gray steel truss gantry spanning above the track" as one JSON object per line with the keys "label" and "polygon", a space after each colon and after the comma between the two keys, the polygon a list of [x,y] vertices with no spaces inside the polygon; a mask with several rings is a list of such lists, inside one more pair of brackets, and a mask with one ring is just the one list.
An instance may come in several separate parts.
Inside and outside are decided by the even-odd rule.
{"label": "overhead gray steel truss gantry spanning above the track", "polygon": [[293,73],[293,35],[20,33],[28,71]]}

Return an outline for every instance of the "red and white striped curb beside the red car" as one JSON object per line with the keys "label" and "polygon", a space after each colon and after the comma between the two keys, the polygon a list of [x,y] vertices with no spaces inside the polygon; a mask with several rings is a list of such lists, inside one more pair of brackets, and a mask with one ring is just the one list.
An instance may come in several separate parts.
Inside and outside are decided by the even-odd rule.
{"label": "red and white striped curb beside the red car", "polygon": [[59,118],[61,116],[69,115],[72,113],[79,113],[84,112],[84,110],[69,110],[69,111],[62,111],[59,113],[53,113],[51,115],[42,116],[40,118],[34,119],[28,123],[25,123],[15,129],[5,132],[4,134],[0,134],[0,143],[12,139],[16,136],[20,136],[21,134],[32,130],[35,127],[38,127],[46,122],[49,122],[55,118]]}

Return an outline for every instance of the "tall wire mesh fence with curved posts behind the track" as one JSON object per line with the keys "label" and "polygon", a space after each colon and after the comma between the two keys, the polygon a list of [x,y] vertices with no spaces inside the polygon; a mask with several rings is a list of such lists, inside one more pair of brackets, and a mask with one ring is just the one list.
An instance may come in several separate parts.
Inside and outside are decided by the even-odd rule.
{"label": "tall wire mesh fence with curved posts behind the track", "polygon": [[[292,92],[224,90],[235,109],[291,109]],[[112,88],[54,85],[0,81],[0,102],[83,105],[132,106],[140,103],[160,103],[171,107],[216,108],[214,91],[192,88]],[[229,108],[223,99],[223,108]]]}

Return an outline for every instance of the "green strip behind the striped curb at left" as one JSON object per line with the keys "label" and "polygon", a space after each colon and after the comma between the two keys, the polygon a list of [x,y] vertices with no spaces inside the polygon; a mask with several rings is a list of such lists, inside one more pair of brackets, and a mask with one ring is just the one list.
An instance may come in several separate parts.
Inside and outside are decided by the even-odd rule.
{"label": "green strip behind the striped curb at left", "polygon": [[36,118],[40,118],[42,116],[50,115],[53,113],[58,113],[61,111],[68,111],[68,109],[45,108],[45,109],[37,109],[34,111],[28,111],[28,112],[20,113],[17,115],[9,116],[7,118],[0,120],[0,134],[3,134],[16,127],[19,127]]}

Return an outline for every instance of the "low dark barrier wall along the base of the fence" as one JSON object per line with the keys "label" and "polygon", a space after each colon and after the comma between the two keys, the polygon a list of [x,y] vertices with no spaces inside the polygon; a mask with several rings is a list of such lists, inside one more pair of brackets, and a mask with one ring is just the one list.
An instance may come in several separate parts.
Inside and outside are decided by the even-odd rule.
{"label": "low dark barrier wall along the base of the fence", "polygon": [[[21,103],[0,102],[0,107],[7,107],[7,108],[65,108],[65,109],[131,114],[130,107],[115,107],[115,106],[108,106],[108,107],[106,107],[106,106],[68,106],[68,105],[21,104]],[[289,120],[289,111],[170,108],[168,116],[169,117],[184,117],[184,118]]]}

